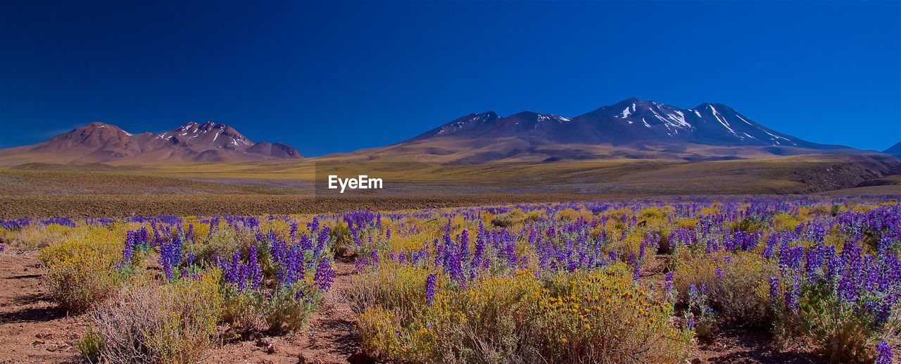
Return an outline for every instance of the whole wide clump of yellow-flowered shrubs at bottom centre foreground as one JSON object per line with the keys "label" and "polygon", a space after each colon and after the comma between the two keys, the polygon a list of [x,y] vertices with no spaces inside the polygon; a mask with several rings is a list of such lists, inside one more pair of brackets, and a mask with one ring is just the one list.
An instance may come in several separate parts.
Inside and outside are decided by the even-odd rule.
{"label": "whole wide clump of yellow-flowered shrubs at bottom centre foreground", "polygon": [[[401,272],[395,274],[394,272]],[[443,277],[443,274],[437,274]],[[633,286],[632,269],[483,276],[465,287],[424,268],[380,266],[350,298],[363,349],[405,362],[678,362],[692,332],[669,303]]]}

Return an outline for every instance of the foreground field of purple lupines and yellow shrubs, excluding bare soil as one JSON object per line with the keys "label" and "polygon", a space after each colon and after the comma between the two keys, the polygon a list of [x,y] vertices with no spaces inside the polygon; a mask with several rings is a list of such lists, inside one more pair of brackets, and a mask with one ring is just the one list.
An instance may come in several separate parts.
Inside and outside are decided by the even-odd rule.
{"label": "foreground field of purple lupines and yellow shrubs, excluding bare soil", "polygon": [[886,198],[23,218],[0,239],[0,262],[37,251],[54,305],[85,323],[73,355],[94,362],[216,361],[310,334],[335,302],[356,359],[728,361],[712,342],[755,335],[773,355],[888,363],[901,344]]}

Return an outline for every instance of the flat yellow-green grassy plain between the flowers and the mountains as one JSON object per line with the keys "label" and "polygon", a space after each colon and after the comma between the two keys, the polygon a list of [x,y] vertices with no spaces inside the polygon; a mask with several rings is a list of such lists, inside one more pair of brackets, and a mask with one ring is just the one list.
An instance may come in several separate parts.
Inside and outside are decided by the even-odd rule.
{"label": "flat yellow-green grassy plain between the flowers and the mountains", "polygon": [[[0,215],[287,214],[633,196],[899,195],[899,171],[865,156],[805,155],[686,162],[591,159],[480,164],[323,157],[294,161],[0,168]],[[330,174],[387,188],[316,197]],[[320,185],[322,186],[322,185]],[[322,197],[322,196],[319,196]]]}

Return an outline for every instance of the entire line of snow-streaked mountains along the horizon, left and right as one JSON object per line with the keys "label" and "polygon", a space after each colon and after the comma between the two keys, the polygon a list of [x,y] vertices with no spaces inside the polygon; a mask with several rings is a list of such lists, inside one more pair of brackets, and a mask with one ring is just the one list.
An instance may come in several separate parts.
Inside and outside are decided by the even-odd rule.
{"label": "entire line of snow-streaked mountains along the horizon, left and right", "polygon": [[[885,151],[901,154],[901,143]],[[868,154],[841,145],[805,141],[753,121],[732,107],[704,103],[684,109],[627,98],[586,114],[523,111],[467,114],[385,147],[331,158],[445,163],[565,159],[722,160],[797,154]],[[90,123],[39,144],[0,150],[0,163],[151,164],[300,159],[293,147],[253,142],[223,123],[185,123],[170,132],[124,132]]]}

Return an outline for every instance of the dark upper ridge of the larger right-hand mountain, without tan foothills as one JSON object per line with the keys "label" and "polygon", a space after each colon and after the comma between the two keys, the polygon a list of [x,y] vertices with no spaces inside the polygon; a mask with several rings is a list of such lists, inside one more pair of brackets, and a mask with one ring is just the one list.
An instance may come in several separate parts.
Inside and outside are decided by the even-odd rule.
{"label": "dark upper ridge of the larger right-hand mountain, without tan foothills", "polygon": [[[527,135],[517,135],[525,133]],[[805,141],[769,129],[728,105],[702,103],[683,109],[630,97],[577,116],[522,111],[502,117],[493,111],[468,114],[407,141],[450,135],[466,137],[528,136],[533,141],[627,143],[685,142],[710,145],[847,148]],[[401,141],[404,142],[404,141]]]}

